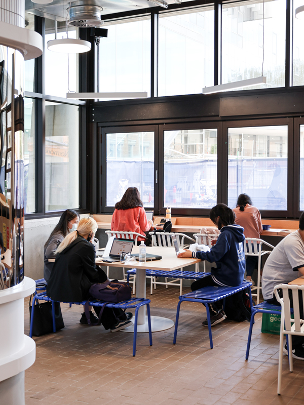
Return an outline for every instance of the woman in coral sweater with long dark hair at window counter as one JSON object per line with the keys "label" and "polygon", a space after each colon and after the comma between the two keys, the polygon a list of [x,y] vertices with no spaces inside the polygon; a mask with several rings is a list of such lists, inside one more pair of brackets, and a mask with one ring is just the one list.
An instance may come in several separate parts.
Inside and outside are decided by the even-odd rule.
{"label": "woman in coral sweater with long dark hair at window counter", "polygon": [[[148,221],[136,187],[129,187],[122,199],[115,204],[115,211],[111,221],[111,231],[137,232],[145,236],[151,229],[153,221]],[[138,240],[144,240],[138,237]]]}

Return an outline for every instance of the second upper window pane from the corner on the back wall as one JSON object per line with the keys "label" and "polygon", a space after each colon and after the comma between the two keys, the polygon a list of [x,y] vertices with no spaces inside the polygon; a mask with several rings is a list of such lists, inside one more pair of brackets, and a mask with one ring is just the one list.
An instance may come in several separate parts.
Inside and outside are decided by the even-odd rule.
{"label": "second upper window pane from the corner on the back wall", "polygon": [[202,93],[214,81],[214,9],[162,13],[159,96]]}

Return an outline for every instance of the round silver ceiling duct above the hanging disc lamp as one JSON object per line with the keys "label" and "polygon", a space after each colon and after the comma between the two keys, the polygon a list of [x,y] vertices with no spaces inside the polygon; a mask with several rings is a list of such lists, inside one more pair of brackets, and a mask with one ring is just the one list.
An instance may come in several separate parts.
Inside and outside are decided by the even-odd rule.
{"label": "round silver ceiling duct above the hanging disc lamp", "polygon": [[69,9],[68,25],[79,28],[99,27],[101,21],[102,7],[95,5],[77,5]]}

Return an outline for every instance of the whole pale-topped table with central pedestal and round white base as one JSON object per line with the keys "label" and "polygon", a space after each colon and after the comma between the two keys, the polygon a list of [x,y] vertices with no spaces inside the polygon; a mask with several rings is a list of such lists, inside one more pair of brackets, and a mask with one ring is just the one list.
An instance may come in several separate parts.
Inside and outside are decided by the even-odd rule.
{"label": "whole pale-topped table with central pedestal and round white base", "polygon": [[[132,253],[138,253],[138,246],[135,246]],[[146,253],[160,255],[163,258],[161,260],[147,261],[146,263],[139,263],[138,261],[128,263],[114,262],[106,263],[102,262],[102,258],[96,258],[96,265],[98,266],[109,266],[109,267],[126,267],[129,269],[136,268],[136,296],[138,298],[146,298],[146,269],[148,270],[165,270],[172,271],[177,270],[191,264],[200,262],[200,259],[193,258],[178,258],[176,257],[174,248],[164,248],[164,247],[147,247]],[[138,321],[137,321],[137,332],[147,333],[148,332],[148,322],[147,316],[145,314],[145,306],[139,308],[138,311]],[[171,319],[162,316],[151,316],[151,328],[152,332],[165,331],[174,326],[174,322]],[[123,329],[123,332],[133,332],[134,325]]]}

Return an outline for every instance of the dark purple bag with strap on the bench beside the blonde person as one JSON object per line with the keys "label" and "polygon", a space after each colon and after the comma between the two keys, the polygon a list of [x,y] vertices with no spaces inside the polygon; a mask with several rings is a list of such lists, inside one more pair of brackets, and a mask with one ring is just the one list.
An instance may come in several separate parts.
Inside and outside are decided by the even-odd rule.
{"label": "dark purple bag with strap on the bench beside the blonde person", "polygon": [[118,303],[121,301],[127,301],[131,299],[132,289],[127,285],[126,282],[112,280],[106,281],[102,284],[96,283],[93,284],[89,290],[89,294],[98,301],[104,301],[104,304],[101,307],[99,312],[98,322],[91,322],[90,313],[89,313],[89,302],[90,299],[85,304],[85,314],[88,319],[89,325],[100,325],[101,323],[101,316],[103,310],[107,303]]}

